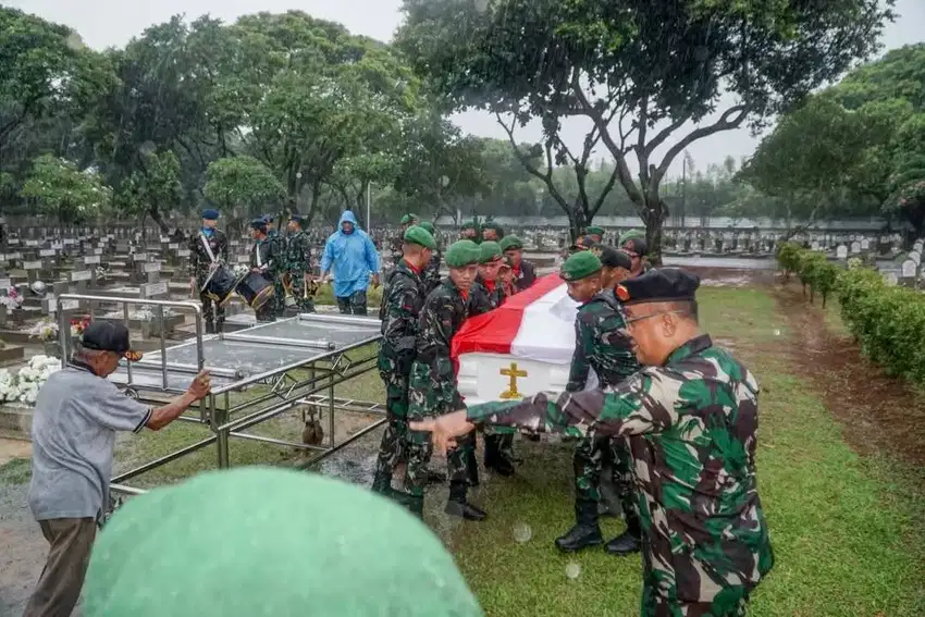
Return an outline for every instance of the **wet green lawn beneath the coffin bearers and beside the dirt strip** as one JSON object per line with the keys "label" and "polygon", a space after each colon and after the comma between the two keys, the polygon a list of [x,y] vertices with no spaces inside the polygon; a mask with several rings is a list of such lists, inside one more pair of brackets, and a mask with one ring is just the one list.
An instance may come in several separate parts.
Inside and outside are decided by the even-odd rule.
{"label": "wet green lawn beneath the coffin bearers and beside the dirt strip", "polygon": [[[921,478],[908,462],[879,452],[859,456],[849,446],[812,377],[793,361],[804,333],[788,328],[775,293],[700,293],[705,329],[749,366],[763,388],[758,488],[776,565],[749,614],[923,615],[925,555],[914,535],[925,514]],[[553,545],[574,521],[572,447],[518,441],[525,462],[517,476],[492,477],[476,496],[489,519],[462,526],[454,538],[460,569],[490,617],[639,614],[638,555],[563,555]],[[622,529],[621,521],[602,518],[605,539]],[[578,576],[569,578],[567,568]]]}

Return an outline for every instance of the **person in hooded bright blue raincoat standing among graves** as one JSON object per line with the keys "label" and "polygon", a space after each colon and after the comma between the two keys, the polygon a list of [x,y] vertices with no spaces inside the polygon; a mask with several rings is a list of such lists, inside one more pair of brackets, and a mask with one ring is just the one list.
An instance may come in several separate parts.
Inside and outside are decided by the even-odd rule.
{"label": "person in hooded bright blue raincoat standing among graves", "polygon": [[373,287],[379,286],[379,252],[367,233],[357,227],[351,211],[341,214],[337,227],[324,243],[321,276],[330,280],[333,275],[334,296],[342,313],[366,314],[370,274]]}

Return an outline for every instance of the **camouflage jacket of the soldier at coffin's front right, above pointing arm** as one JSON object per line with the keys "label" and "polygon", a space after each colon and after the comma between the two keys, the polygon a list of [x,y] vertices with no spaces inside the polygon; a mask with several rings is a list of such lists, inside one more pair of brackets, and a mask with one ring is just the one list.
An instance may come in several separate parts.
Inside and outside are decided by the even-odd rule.
{"label": "camouflage jacket of the soldier at coffin's front right, above pointing arm", "polygon": [[625,328],[613,289],[602,289],[581,305],[575,319],[575,354],[566,392],[584,390],[589,368],[594,369],[601,387],[617,385],[641,368]]}

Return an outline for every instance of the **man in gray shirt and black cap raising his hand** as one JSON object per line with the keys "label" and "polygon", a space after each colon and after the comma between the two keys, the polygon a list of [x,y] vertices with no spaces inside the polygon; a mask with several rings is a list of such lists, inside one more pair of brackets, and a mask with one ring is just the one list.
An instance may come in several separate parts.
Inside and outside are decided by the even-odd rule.
{"label": "man in gray shirt and black cap raising his hand", "polygon": [[141,358],[130,347],[128,330],[95,321],[72,366],[52,373],[38,392],[29,507],[51,547],[23,617],[69,617],[77,604],[97,523],[109,504],[115,432],[160,430],[209,393],[202,371],[182,396],[152,409],[106,379],[122,358]]}

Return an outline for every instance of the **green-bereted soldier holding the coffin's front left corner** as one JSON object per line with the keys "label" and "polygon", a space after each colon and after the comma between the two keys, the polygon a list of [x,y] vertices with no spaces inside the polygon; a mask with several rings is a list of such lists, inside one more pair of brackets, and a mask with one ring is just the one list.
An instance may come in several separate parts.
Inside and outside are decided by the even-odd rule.
{"label": "green-bereted soldier holding the coffin's front left corner", "polygon": [[[417,358],[411,367],[408,393],[408,419],[433,418],[459,409],[462,399],[456,390],[456,374],[449,355],[453,335],[469,317],[469,291],[474,282],[481,250],[471,240],[454,243],[446,251],[449,276],[424,301],[418,320]],[[446,457],[449,501],[444,511],[467,520],[482,520],[485,513],[466,501],[469,460],[473,454],[473,434],[460,439]],[[427,433],[409,431],[406,441],[408,461],[405,485],[410,493],[411,511],[423,511],[428,483],[427,465],[431,443]]]}

